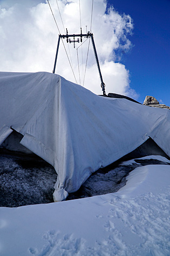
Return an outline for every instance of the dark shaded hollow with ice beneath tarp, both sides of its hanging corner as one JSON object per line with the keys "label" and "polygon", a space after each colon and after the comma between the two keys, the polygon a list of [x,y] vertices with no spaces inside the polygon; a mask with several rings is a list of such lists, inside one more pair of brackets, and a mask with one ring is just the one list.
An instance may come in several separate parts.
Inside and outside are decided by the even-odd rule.
{"label": "dark shaded hollow with ice beneath tarp, both sides of its hanging corner", "polygon": [[[42,158],[19,144],[22,135],[13,131],[0,147],[0,206],[18,207],[29,204],[53,202],[53,187],[57,180],[55,169]],[[119,165],[123,161],[148,155],[169,157],[149,138],[137,149],[118,161],[94,172],[80,189],[70,193],[66,200],[94,195],[114,193],[126,184],[126,176],[139,166]],[[160,161],[145,160],[145,164],[162,164]],[[165,164],[165,163],[163,163]]]}

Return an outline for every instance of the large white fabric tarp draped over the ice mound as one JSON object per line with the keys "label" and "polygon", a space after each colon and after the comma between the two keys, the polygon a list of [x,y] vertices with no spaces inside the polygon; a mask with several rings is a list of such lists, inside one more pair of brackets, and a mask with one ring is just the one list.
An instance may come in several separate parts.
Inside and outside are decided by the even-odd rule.
{"label": "large white fabric tarp draped over the ice mound", "polygon": [[0,72],[0,142],[11,129],[58,174],[62,201],[151,137],[170,156],[170,111],[100,97],[56,74]]}

